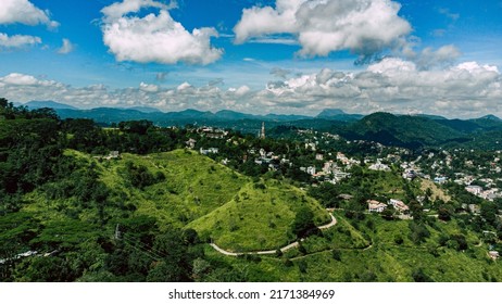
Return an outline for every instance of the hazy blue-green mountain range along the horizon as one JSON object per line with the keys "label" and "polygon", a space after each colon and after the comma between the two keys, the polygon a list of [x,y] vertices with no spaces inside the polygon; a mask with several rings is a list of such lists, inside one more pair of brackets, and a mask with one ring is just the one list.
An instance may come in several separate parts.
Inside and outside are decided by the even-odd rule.
{"label": "hazy blue-green mountain range along the horizon", "polygon": [[[266,123],[267,134],[278,135],[277,128],[311,128],[339,134],[349,140],[368,140],[386,145],[410,149],[462,145],[502,150],[502,119],[486,115],[474,119],[448,119],[437,115],[397,115],[373,113],[348,114],[326,109],[316,116],[266,114],[254,115],[229,110],[216,113],[198,110],[164,113],[153,107],[97,107],[79,110],[53,101],[32,101],[29,109],[52,107],[61,118],[88,118],[101,125],[124,121],[148,119],[159,126],[212,125],[255,134]],[[280,136],[283,136],[281,134]]]}

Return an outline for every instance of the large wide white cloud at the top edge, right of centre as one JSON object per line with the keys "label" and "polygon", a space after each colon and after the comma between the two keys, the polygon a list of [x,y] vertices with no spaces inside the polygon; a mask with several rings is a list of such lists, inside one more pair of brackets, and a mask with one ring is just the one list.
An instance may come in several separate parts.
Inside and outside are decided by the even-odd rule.
{"label": "large wide white cloud at the top edge, right of centre", "polygon": [[350,50],[372,55],[405,43],[411,25],[391,0],[276,0],[275,8],[244,9],[234,27],[236,43],[275,34],[297,37],[301,55]]}

